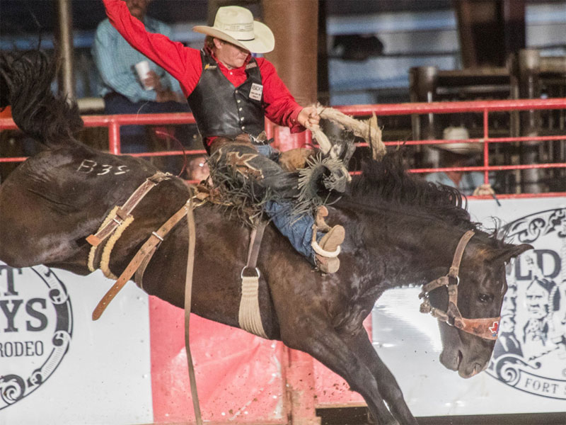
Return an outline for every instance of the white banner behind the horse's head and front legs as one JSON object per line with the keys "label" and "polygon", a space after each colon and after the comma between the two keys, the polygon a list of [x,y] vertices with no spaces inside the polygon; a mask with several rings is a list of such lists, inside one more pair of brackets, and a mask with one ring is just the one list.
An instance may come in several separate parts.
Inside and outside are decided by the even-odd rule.
{"label": "white banner behind the horse's head and front legs", "polygon": [[490,368],[465,380],[439,362],[437,321],[419,312],[420,288],[387,291],[373,312],[374,346],[415,416],[566,411],[566,198],[472,200],[473,220],[509,226],[529,243],[509,266]]}

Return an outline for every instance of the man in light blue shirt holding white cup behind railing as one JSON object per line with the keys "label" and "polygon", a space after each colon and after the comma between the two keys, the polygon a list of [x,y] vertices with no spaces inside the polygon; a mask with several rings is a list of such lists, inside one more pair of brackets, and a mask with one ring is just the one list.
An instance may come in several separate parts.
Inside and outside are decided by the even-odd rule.
{"label": "man in light blue shirt holding white cup behind railing", "polygon": [[[165,23],[146,16],[151,0],[125,0],[129,13],[144,23],[151,33],[160,33],[171,38],[172,31]],[[100,22],[96,29],[93,57],[100,73],[100,96],[103,96],[105,113],[170,113],[190,112],[185,96],[177,80],[163,68],[131,47],[108,19]],[[141,81],[135,69],[139,62],[149,62],[148,77]],[[151,89],[145,89],[145,86]],[[177,131],[178,139],[188,137],[187,128]],[[144,152],[147,150],[145,130],[141,125],[120,127],[122,152]],[[185,144],[188,140],[184,141]]]}

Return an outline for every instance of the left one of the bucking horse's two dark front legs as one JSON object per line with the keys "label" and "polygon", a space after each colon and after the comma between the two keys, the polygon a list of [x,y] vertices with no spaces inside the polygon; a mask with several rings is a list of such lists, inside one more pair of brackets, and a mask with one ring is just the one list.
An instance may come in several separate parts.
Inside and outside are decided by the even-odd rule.
{"label": "left one of the bucking horse's two dark front legs", "polygon": [[[308,325],[305,325],[308,322]],[[296,348],[311,354],[327,368],[342,376],[350,385],[352,390],[359,392],[366,400],[369,411],[377,419],[380,425],[399,425],[393,419],[386,404],[383,402],[377,381],[357,353],[342,341],[335,329],[322,321],[311,318],[299,325],[300,329],[294,327],[289,338],[283,337],[282,341],[291,348]],[[403,422],[415,424],[416,422]]]}

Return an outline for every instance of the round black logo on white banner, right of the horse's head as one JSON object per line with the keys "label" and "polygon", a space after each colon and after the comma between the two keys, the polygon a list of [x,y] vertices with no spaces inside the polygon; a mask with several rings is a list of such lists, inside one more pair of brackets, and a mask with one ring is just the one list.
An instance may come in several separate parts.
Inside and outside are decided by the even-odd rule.
{"label": "round black logo on white banner, right of the horse's head", "polygon": [[534,249],[507,267],[487,373],[517,390],[566,399],[566,208],[526,215],[504,230],[508,242]]}

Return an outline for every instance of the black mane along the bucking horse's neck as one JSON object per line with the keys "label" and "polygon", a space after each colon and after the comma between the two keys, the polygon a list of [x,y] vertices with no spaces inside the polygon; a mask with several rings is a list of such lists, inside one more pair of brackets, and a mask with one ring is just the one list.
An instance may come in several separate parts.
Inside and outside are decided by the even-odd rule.
{"label": "black mane along the bucking horse's neck", "polygon": [[417,174],[408,173],[403,151],[395,151],[388,152],[381,161],[366,160],[362,174],[354,176],[348,196],[340,202],[429,215],[458,227],[475,229],[465,201],[456,188],[430,183]]}

